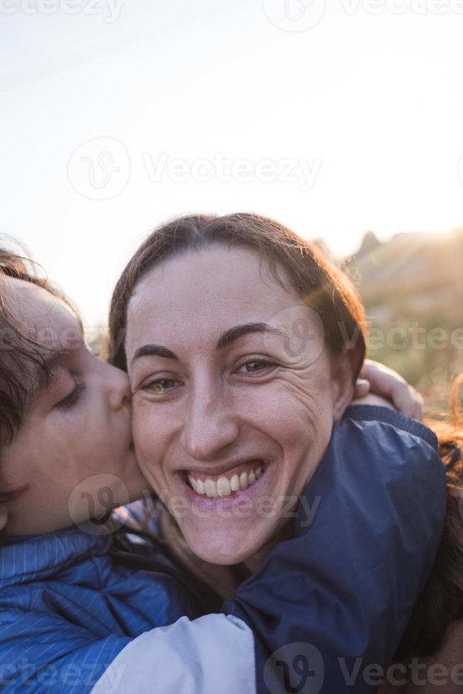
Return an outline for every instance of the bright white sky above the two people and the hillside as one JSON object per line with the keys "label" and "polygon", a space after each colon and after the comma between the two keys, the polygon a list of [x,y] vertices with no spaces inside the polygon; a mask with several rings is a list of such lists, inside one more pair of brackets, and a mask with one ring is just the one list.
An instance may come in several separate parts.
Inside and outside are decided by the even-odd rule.
{"label": "bright white sky above the two people and the hillside", "polygon": [[462,33],[463,0],[0,0],[0,229],[90,325],[185,212],[261,212],[338,255],[445,232]]}

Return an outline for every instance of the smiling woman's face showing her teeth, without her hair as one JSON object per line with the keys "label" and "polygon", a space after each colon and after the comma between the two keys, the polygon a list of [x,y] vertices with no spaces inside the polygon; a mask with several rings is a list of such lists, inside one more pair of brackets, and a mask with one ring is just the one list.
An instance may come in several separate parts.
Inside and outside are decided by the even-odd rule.
{"label": "smiling woman's face showing her teeth, without her hair", "polygon": [[216,246],[161,263],[128,307],[139,465],[216,564],[252,557],[294,517],[352,394],[319,317],[285,287],[256,252]]}

